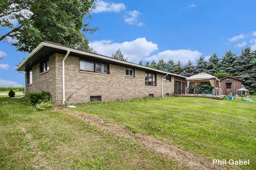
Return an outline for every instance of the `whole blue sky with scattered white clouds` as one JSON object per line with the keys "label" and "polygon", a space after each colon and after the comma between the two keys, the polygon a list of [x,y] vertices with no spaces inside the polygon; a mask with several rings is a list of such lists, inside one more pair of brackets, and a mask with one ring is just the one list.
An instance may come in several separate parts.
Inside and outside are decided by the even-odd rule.
{"label": "whole blue sky with scattered white clouds", "polygon": [[[256,1],[98,1],[91,13],[86,36],[99,54],[118,48],[138,63],[164,58],[197,61],[227,50],[256,49]],[[1,34],[4,30],[1,31]],[[27,53],[0,42],[0,86],[23,86],[24,77],[14,71]]]}

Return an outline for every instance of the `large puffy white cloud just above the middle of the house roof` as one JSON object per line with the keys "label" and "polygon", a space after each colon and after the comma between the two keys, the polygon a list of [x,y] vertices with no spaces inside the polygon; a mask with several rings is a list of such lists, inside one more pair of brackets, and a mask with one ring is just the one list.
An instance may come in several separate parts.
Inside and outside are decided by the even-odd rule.
{"label": "large puffy white cloud just above the middle of the house roof", "polygon": [[158,50],[157,44],[147,41],[146,38],[137,38],[123,43],[113,43],[111,40],[92,41],[90,47],[97,53],[112,56],[118,48],[125,57],[131,62],[139,62],[143,57],[149,56],[155,50]]}

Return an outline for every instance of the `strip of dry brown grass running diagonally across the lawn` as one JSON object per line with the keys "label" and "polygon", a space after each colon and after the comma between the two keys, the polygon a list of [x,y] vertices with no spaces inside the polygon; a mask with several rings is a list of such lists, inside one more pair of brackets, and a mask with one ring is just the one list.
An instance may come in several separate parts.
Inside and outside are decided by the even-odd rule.
{"label": "strip of dry brown grass running diagonally across the lawn", "polygon": [[119,135],[127,139],[134,139],[139,143],[139,145],[149,150],[153,150],[165,158],[172,159],[179,165],[185,166],[189,169],[227,169],[223,166],[221,167],[219,165],[212,165],[212,162],[206,158],[193,154],[178,146],[170,145],[170,143],[157,140],[142,133],[131,133],[127,131],[122,125],[110,123],[95,116],[70,111],[69,109],[63,107],[55,107],[54,109],[62,113],[67,113],[69,115],[81,118],[87,123],[96,124],[102,130],[111,132],[115,135]]}

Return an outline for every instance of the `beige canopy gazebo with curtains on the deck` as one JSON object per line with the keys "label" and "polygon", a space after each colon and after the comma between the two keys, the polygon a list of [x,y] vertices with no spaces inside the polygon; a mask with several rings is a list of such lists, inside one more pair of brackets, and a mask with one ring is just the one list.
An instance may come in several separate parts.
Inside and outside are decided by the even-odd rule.
{"label": "beige canopy gazebo with curtains on the deck", "polygon": [[[189,91],[189,82],[194,82],[194,95],[196,95],[196,85],[197,82],[210,82],[211,86],[213,87],[213,95],[217,96],[217,89],[220,89],[220,79],[217,77],[214,77],[211,74],[207,73],[199,73],[196,75],[192,75],[191,77],[187,78],[187,90],[186,94],[188,94]],[[220,90],[219,90],[220,91]],[[220,95],[220,94],[218,94]]]}

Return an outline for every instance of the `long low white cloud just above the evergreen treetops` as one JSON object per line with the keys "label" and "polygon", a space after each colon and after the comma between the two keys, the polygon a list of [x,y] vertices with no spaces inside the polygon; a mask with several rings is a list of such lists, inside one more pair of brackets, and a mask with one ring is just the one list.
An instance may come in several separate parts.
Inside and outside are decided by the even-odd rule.
{"label": "long low white cloud just above the evergreen treetops", "polygon": [[164,59],[168,61],[172,59],[174,62],[181,61],[181,63],[185,64],[189,60],[195,61],[202,53],[198,52],[197,50],[190,50],[190,49],[178,49],[178,50],[165,50],[163,52],[159,52],[156,55],[147,57],[146,61],[158,61]]}

